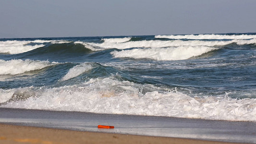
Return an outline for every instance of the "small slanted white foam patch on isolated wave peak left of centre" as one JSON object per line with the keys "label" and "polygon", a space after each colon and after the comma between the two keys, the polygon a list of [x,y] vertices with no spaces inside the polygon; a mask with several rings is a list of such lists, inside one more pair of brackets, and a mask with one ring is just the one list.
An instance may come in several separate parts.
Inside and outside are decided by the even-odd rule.
{"label": "small slanted white foam patch on isolated wave peak left of centre", "polygon": [[91,70],[93,67],[88,63],[82,63],[79,65],[74,66],[72,69],[69,70],[69,72],[61,78],[61,81],[69,80],[73,77],[76,77],[84,72],[87,72]]}

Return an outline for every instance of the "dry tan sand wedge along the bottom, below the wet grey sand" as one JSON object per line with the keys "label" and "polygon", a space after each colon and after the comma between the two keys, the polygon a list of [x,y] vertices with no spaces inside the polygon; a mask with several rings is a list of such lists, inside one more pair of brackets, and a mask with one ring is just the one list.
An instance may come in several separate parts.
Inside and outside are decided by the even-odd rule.
{"label": "dry tan sand wedge along the bottom, below the wet grey sand", "polygon": [[81,132],[2,123],[0,129],[4,130],[0,131],[0,143],[4,144],[238,144],[186,138]]}

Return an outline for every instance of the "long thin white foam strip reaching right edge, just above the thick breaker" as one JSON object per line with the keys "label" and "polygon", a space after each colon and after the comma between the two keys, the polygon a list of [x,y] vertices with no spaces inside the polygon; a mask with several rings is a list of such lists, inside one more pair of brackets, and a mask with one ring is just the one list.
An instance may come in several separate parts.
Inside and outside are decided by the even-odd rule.
{"label": "long thin white foam strip reaching right edge, just above the thick breaker", "polygon": [[[230,40],[230,41],[202,41],[202,40],[142,40],[142,41],[128,41],[124,43],[87,43],[92,46],[100,48],[165,48],[165,47],[180,47],[180,46],[225,46],[228,44],[237,43],[238,45],[256,43],[256,39],[251,40]],[[92,49],[93,50],[93,49]]]}

